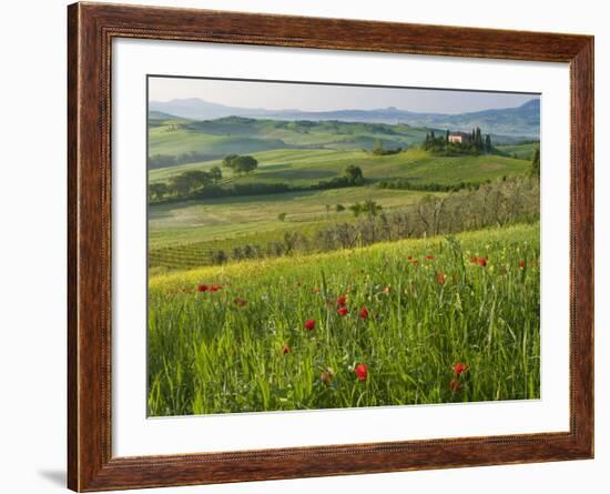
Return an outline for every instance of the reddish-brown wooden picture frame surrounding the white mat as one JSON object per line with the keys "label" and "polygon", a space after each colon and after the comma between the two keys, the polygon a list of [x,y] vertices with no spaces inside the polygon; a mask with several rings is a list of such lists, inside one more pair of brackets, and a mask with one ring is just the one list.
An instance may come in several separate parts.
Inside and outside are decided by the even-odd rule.
{"label": "reddish-brown wooden picture frame surrounding the white mat", "polygon": [[[592,37],[101,3],[72,4],[68,20],[70,488],[104,491],[593,456]],[[113,457],[110,129],[114,38],[569,63],[569,432]]]}

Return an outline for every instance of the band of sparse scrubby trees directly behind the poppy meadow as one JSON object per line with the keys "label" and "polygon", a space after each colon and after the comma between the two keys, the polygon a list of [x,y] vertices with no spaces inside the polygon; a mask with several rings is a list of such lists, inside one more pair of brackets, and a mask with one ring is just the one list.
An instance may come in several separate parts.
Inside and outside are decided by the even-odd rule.
{"label": "band of sparse scrubby trees directly behind the poppy meadow", "polygon": [[337,222],[311,235],[296,231],[284,232],[266,243],[213,250],[206,261],[222,264],[294,253],[327,252],[377,242],[532,222],[540,215],[539,198],[538,180],[520,177],[497,180],[480,184],[476,190],[465,189],[444,196],[426,195],[419,202],[393,212],[384,211],[375,201],[365,201],[348,208],[356,218],[354,221]]}

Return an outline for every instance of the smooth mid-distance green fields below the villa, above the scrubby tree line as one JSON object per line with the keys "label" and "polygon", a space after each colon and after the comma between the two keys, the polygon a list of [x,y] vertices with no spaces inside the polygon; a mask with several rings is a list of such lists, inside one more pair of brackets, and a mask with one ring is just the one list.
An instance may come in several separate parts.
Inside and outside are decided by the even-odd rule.
{"label": "smooth mid-distance green fields below the villa, above the scrubby tree line", "polygon": [[[350,220],[350,213],[334,212],[374,200],[385,212],[399,210],[421,200],[427,192],[379,189],[375,181],[408,179],[414,184],[456,184],[482,182],[505,175],[521,175],[530,164],[525,160],[497,155],[437,157],[419,148],[375,157],[364,151],[273,150],[254,153],[260,168],[248,177],[232,178],[231,183],[289,183],[307,186],[340,175],[348,164],[362,168],[368,185],[333,190],[298,191],[281,194],[230,196],[151,204],[149,242],[151,266],[196,265],[214,249],[233,249],[240,244],[263,244],[286,231],[312,233],[329,222]],[[167,181],[185,170],[209,170],[220,161],[191,163],[151,170],[150,181]],[[436,195],[443,195],[436,193]],[[326,204],[332,208],[326,212]],[[285,213],[284,221],[278,215]],[[167,249],[172,249],[169,251]],[[197,261],[200,260],[200,261]]]}

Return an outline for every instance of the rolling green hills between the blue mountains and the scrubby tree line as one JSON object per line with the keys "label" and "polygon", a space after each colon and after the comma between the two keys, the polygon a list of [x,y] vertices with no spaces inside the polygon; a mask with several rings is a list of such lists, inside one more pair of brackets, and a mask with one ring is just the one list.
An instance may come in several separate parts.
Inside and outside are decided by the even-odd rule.
{"label": "rolling green hills between the blue mountains and the scrubby tree line", "polygon": [[[429,189],[384,189],[380,182],[407,180],[415,189],[430,184],[461,186],[523,175],[530,170],[529,159],[520,158],[531,150],[531,143],[502,149],[507,155],[444,157],[418,145],[428,132],[424,127],[338,120],[225,117],[195,121],[154,110],[149,119],[149,153],[179,161],[172,165],[149,165],[149,183],[170,183],[185,171],[222,168],[224,155],[240,153],[253,155],[258,168],[245,175],[222,168],[223,178],[217,186],[234,190],[235,185],[247,185],[247,191],[254,191],[256,185],[272,190],[264,186],[285,184],[289,190],[206,199],[170,196],[167,201],[151,203],[152,265],[182,265],[179,258],[196,264],[203,262],[201,255],[214,249],[266,244],[282,240],[286,233],[313,234],[328,222],[350,221],[349,212],[328,214],[326,204],[347,208],[374,200],[384,211],[392,212],[430,193]],[[379,144],[386,150],[401,148],[401,151],[385,155],[369,151]],[[517,152],[519,157],[514,158]],[[321,181],[342,177],[352,164],[362,169],[364,186],[319,189]],[[433,193],[445,194],[438,189]],[[279,220],[279,214],[287,216]]]}

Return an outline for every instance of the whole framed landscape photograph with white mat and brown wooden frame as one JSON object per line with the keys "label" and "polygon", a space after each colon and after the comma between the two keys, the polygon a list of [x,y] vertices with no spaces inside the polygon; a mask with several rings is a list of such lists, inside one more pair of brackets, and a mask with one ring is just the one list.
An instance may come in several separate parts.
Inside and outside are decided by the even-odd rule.
{"label": "whole framed landscape photograph with white mat and brown wooden frame", "polygon": [[68,483],[593,456],[593,38],[69,7]]}

